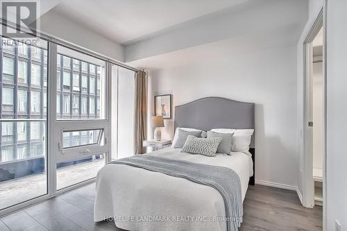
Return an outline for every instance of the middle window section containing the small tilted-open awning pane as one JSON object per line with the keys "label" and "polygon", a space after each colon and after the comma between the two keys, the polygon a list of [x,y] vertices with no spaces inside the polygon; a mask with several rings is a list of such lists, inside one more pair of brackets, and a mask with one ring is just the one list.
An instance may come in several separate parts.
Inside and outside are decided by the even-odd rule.
{"label": "middle window section containing the small tilted-open awning pane", "polygon": [[[105,164],[108,114],[106,62],[63,46],[57,48],[56,119],[62,133],[58,134],[62,148],[56,164],[59,190],[94,178]],[[83,154],[78,155],[80,152]]]}

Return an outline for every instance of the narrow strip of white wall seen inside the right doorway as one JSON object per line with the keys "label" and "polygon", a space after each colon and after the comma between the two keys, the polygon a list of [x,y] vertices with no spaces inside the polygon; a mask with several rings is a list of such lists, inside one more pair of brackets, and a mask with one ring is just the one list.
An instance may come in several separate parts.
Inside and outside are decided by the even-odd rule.
{"label": "narrow strip of white wall seen inside the right doorway", "polygon": [[323,63],[315,62],[313,74],[313,167],[323,169]]}

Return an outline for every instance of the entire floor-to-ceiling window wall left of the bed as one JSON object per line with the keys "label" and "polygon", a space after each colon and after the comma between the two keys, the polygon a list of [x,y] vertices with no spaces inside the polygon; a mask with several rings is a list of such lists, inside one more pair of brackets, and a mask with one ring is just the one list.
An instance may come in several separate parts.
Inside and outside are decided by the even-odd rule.
{"label": "entire floor-to-ceiling window wall left of the bed", "polygon": [[49,37],[0,38],[0,215],[95,178],[111,160],[111,119],[133,155],[134,71]]}

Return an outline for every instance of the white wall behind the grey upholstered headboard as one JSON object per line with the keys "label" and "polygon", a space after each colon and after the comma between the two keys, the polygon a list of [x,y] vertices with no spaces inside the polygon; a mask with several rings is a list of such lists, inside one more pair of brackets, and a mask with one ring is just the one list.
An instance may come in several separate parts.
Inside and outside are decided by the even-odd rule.
{"label": "white wall behind the grey upholstered headboard", "polygon": [[[255,179],[298,185],[296,46],[255,50],[150,71],[151,114],[155,94],[173,94],[174,106],[205,96],[256,103]],[[174,119],[165,120],[163,139],[172,139],[173,133]],[[150,124],[148,135],[153,137]]]}

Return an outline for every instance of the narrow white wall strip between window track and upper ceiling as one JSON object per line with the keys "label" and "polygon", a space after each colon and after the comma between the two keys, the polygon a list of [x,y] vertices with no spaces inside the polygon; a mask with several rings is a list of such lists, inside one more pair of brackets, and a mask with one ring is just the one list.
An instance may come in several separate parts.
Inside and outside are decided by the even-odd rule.
{"label": "narrow white wall strip between window track and upper ceiling", "polygon": [[52,10],[40,17],[40,31],[101,55],[124,61],[124,47]]}

